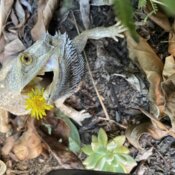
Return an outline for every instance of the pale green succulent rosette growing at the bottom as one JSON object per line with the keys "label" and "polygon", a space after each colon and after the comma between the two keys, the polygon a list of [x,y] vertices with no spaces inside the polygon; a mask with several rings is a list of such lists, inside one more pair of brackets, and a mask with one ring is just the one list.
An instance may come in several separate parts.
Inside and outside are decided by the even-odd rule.
{"label": "pale green succulent rosette growing at the bottom", "polygon": [[100,129],[97,137],[92,136],[92,143],[82,148],[87,155],[83,164],[87,169],[129,173],[136,161],[123,146],[124,142],[125,136],[117,136],[108,143],[106,132]]}

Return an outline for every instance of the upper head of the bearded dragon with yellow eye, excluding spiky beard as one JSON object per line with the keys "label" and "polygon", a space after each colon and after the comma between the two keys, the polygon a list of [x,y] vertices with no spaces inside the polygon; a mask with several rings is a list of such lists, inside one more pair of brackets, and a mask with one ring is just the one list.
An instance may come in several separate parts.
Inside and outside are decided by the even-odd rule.
{"label": "upper head of the bearded dragon with yellow eye, excluding spiky beard", "polygon": [[46,36],[20,53],[11,62],[7,62],[7,64],[11,64],[11,67],[3,83],[8,90],[14,93],[22,93],[30,85],[33,84],[34,86],[37,83],[38,74],[44,73],[43,69],[53,54],[54,47],[49,40],[49,36]]}

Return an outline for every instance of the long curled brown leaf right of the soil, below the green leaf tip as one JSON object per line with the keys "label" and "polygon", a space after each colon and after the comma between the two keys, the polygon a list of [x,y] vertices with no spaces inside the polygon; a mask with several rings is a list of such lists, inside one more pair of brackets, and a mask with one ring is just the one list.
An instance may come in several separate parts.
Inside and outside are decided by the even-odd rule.
{"label": "long curled brown leaf right of the soil, below the green leaf tip", "polygon": [[139,43],[136,43],[129,33],[125,32],[125,34],[129,57],[144,71],[150,83],[150,101],[158,106],[160,112],[163,113],[164,98],[160,87],[163,63],[145,39],[140,37]]}

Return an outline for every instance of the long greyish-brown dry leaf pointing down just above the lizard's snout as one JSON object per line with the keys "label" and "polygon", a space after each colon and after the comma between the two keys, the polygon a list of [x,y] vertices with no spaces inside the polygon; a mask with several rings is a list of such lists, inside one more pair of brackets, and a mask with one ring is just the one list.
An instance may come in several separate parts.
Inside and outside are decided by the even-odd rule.
{"label": "long greyish-brown dry leaf pointing down just above the lizard's snout", "polygon": [[38,19],[35,26],[31,30],[31,35],[34,41],[41,38],[41,36],[47,31],[58,4],[59,0],[38,1]]}

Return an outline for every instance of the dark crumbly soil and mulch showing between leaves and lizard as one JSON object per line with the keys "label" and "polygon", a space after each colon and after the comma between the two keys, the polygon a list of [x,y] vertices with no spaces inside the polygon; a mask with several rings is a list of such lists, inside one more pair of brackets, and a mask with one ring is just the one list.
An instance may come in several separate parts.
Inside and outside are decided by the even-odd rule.
{"label": "dark crumbly soil and mulch showing between leaves and lizard", "polygon": [[[33,10],[36,4],[32,2]],[[32,27],[34,13],[29,21],[26,32]],[[59,9],[54,14],[51,21],[49,32],[54,34],[56,31],[67,32],[70,38],[77,35],[76,27],[73,22],[73,15],[80,30],[85,30],[81,21],[80,11],[77,1],[74,1],[73,8],[60,15]],[[144,13],[143,13],[144,16]],[[137,20],[141,17],[136,16]],[[109,6],[91,7],[90,11],[91,28],[97,26],[111,26],[115,24],[113,9]],[[168,40],[168,34],[159,26],[149,20],[146,26],[138,27],[138,32],[155,49],[156,53],[163,60],[167,53],[167,44],[162,41]],[[31,45],[30,35],[24,37],[24,43]],[[82,144],[89,144],[91,136],[97,134],[100,127],[103,127],[109,137],[125,134],[125,128],[129,124],[138,123],[140,118],[145,116],[137,110],[142,107],[149,110],[148,88],[144,73],[129,59],[127,44],[125,39],[114,40],[105,38],[98,41],[88,41],[85,53],[90,64],[91,72],[98,91],[103,98],[103,102],[110,118],[118,124],[109,123],[99,118],[104,118],[105,114],[94,90],[92,80],[86,70],[82,86],[78,92],[72,95],[66,103],[77,110],[85,109],[92,117],[86,119],[82,126],[77,126]],[[164,61],[164,60],[163,60]],[[137,77],[142,82],[142,89],[138,91],[126,79],[131,76]],[[139,119],[138,119],[139,118]],[[167,120],[169,123],[169,121]],[[4,135],[0,135],[0,145],[3,145]],[[145,150],[153,148],[153,153],[146,160],[138,162],[131,174],[144,172],[145,175],[173,175],[175,174],[175,139],[167,136],[161,140],[154,140],[148,134],[141,137],[140,143]],[[140,154],[136,148],[127,143],[131,155],[135,158]],[[29,161],[6,160],[10,167],[7,174],[46,174],[49,170],[59,168],[56,159],[51,153],[46,153],[36,159]]]}

